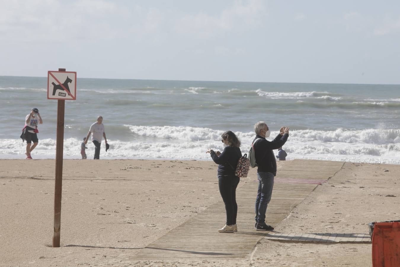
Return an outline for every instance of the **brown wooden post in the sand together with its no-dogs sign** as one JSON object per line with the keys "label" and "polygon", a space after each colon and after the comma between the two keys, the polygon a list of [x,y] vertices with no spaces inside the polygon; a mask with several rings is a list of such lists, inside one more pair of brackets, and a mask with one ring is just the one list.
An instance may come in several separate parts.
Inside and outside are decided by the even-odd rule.
{"label": "brown wooden post in the sand together with its no-dogs sign", "polygon": [[[57,73],[57,74],[56,74]],[[61,83],[65,75],[66,81]],[[50,76],[52,78],[50,78]],[[56,77],[57,76],[57,77]],[[71,79],[71,77],[74,80]],[[51,84],[53,90],[50,90]],[[69,88],[68,83],[74,82],[75,90]],[[61,193],[62,193],[62,160],[64,151],[64,112],[65,99],[76,99],[76,72],[66,72],[65,68],[59,68],[58,72],[48,72],[47,82],[47,98],[58,99],[57,104],[57,141],[56,141],[56,177],[54,183],[54,234],[53,247],[60,247],[60,230],[61,230]],[[60,92],[65,91],[65,92]],[[58,94],[56,95],[56,93]],[[68,93],[68,96],[67,96]],[[64,98],[64,99],[63,99]]]}

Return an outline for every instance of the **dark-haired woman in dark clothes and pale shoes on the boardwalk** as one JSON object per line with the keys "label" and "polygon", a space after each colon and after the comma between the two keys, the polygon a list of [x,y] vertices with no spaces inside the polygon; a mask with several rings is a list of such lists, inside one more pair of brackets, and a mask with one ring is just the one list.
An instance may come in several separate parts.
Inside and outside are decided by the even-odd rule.
{"label": "dark-haired woman in dark clothes and pale shoes on the boardwalk", "polygon": [[240,141],[232,131],[224,132],[222,135],[224,151],[214,151],[208,149],[212,160],[218,164],[218,186],[222,200],[225,204],[226,223],[224,227],[218,230],[220,233],[233,233],[238,231],[236,225],[236,215],[238,214],[238,205],[236,203],[236,187],[239,184],[239,177],[235,175],[238,160],[242,157],[240,151]]}

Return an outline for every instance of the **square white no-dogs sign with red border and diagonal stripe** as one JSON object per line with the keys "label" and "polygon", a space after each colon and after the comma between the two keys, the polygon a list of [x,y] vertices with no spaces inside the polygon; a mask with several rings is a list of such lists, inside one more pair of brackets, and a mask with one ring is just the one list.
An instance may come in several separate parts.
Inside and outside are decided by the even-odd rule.
{"label": "square white no-dogs sign with red border and diagonal stripe", "polygon": [[47,99],[76,100],[76,72],[49,70]]}

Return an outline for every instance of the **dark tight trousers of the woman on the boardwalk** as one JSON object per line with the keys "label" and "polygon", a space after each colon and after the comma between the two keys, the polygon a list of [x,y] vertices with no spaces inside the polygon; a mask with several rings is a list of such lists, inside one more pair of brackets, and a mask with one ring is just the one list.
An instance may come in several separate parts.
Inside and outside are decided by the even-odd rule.
{"label": "dark tight trousers of the woman on the boardwalk", "polygon": [[238,204],[236,204],[236,187],[238,187],[240,178],[234,175],[219,176],[218,186],[226,210],[226,225],[236,224],[236,215],[238,214]]}

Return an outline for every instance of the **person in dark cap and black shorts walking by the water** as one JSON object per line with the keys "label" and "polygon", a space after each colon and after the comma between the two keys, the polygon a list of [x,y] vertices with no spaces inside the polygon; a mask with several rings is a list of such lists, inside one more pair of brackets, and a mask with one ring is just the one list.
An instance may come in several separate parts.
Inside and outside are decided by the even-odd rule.
{"label": "person in dark cap and black shorts walking by the water", "polygon": [[[25,117],[25,140],[26,140],[26,159],[32,159],[30,153],[39,143],[38,123],[42,124],[43,120],[37,108],[32,108],[31,112]],[[33,142],[33,145],[32,145]]]}

